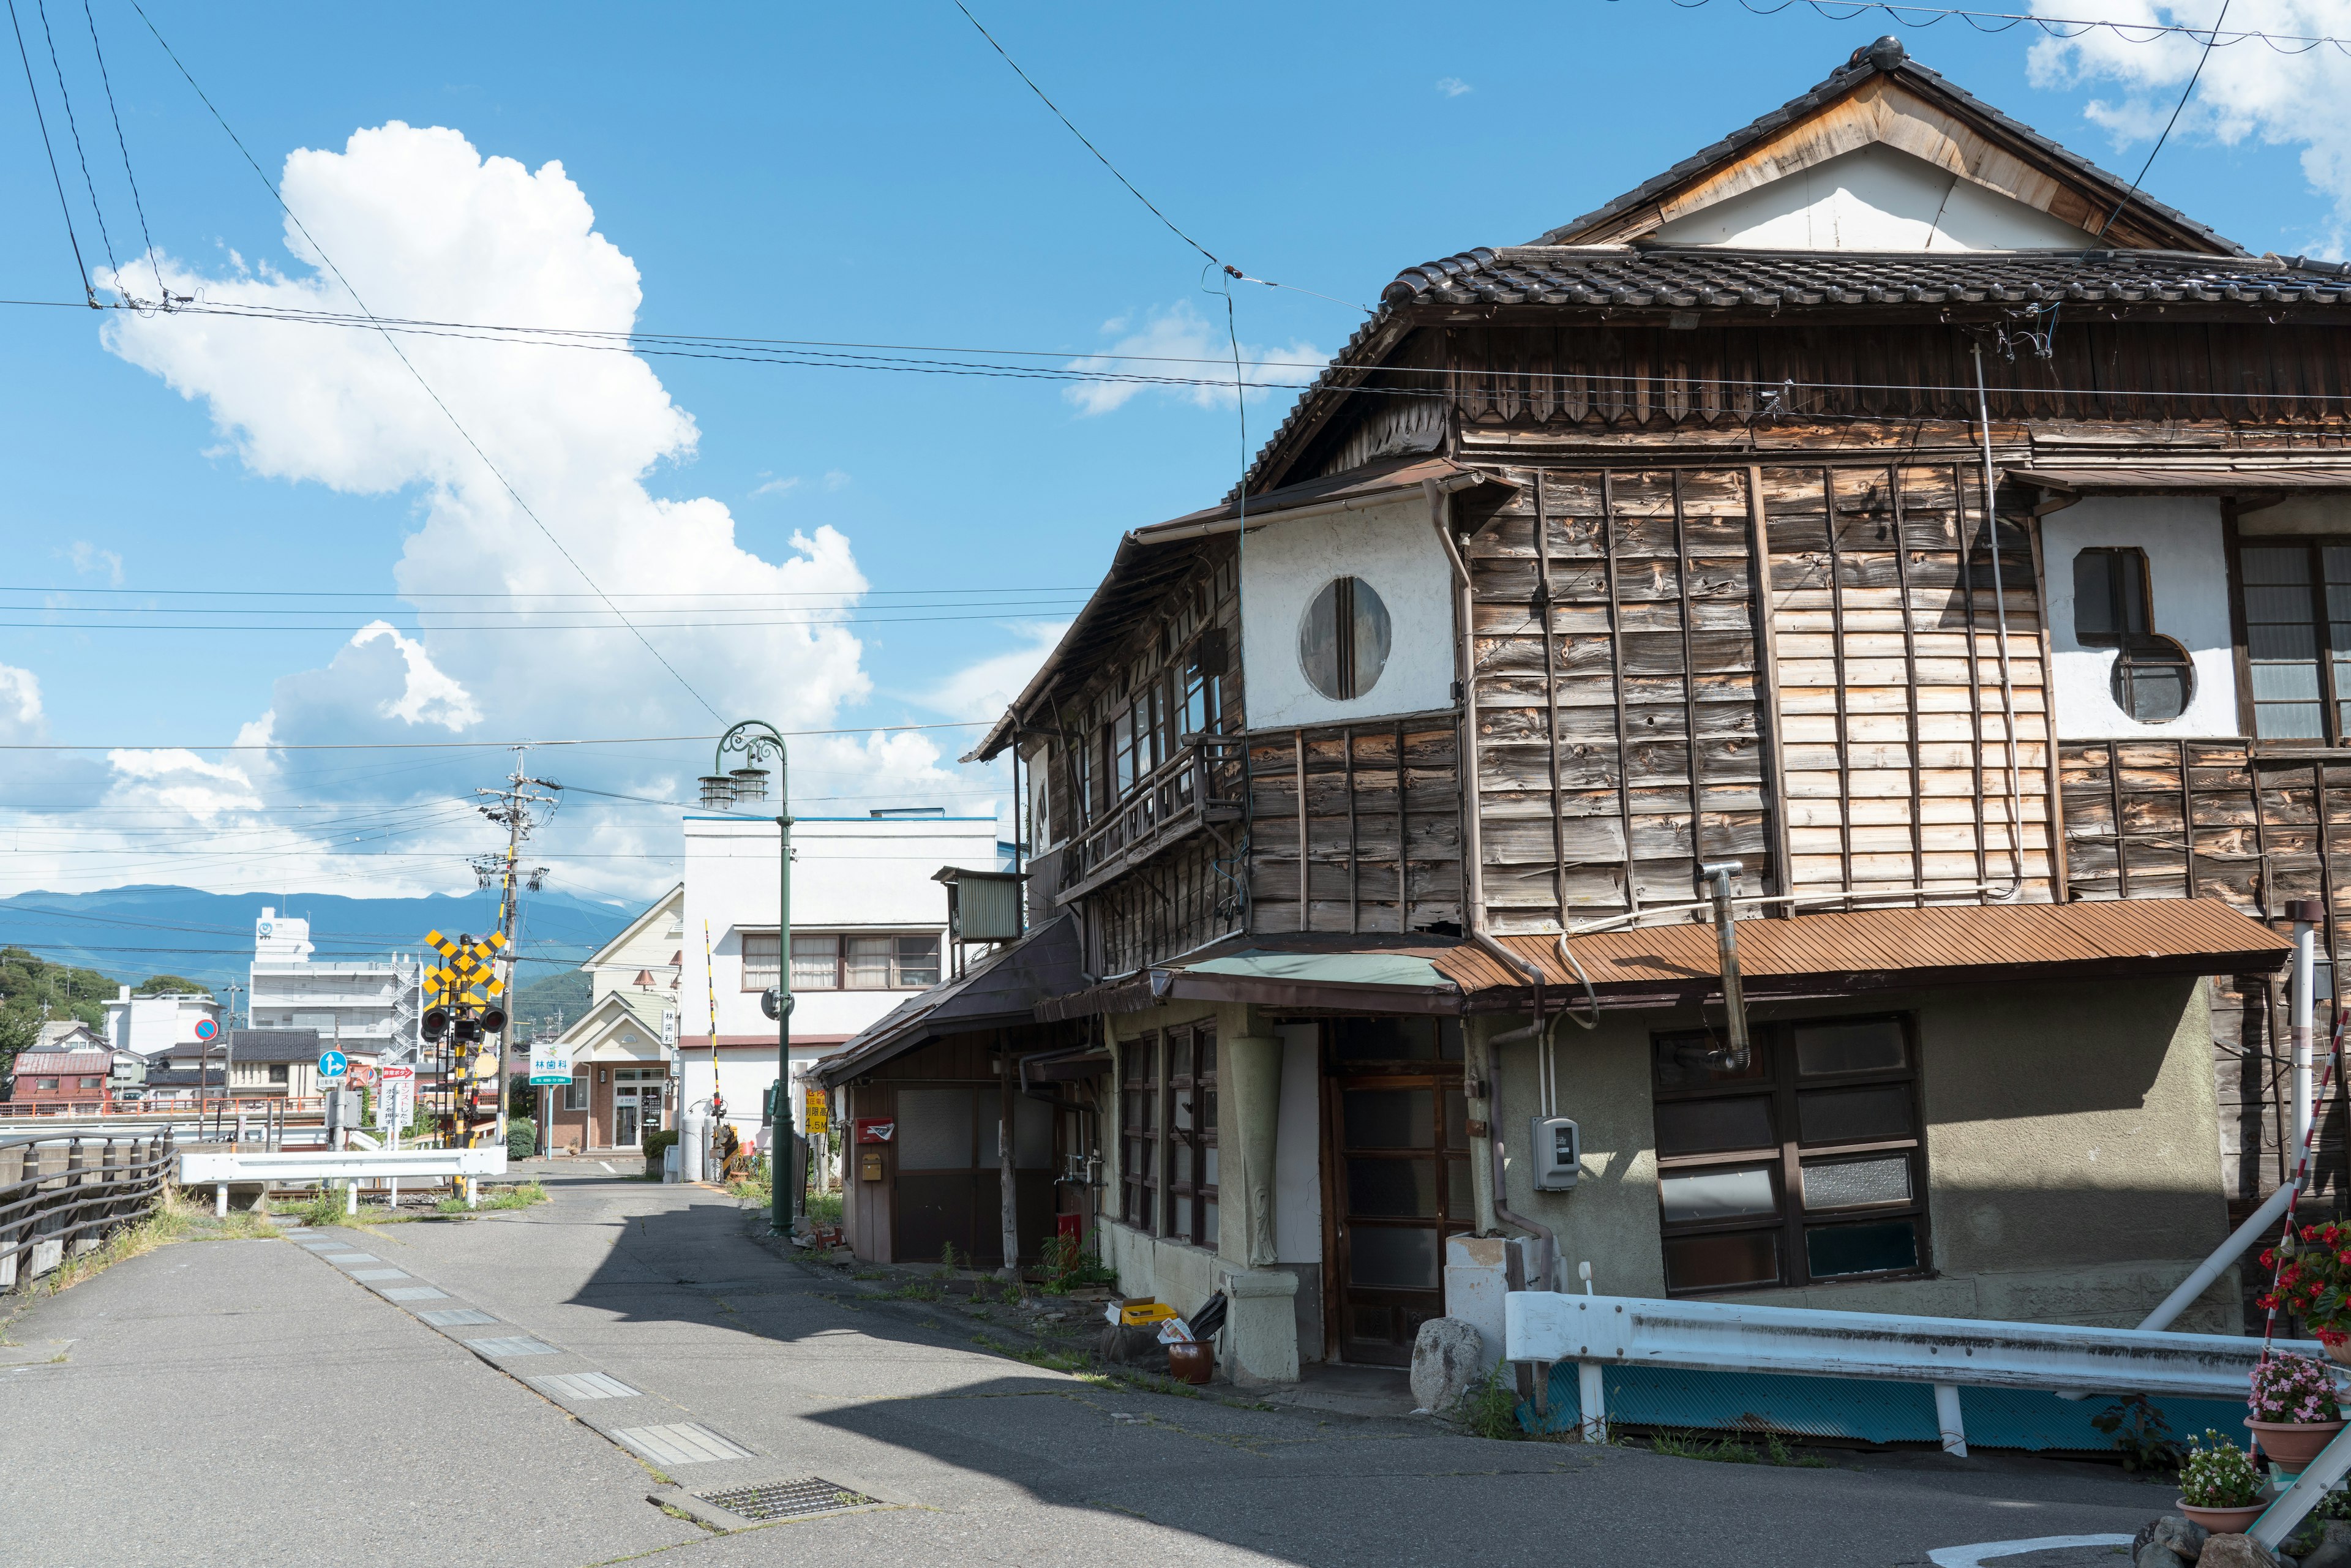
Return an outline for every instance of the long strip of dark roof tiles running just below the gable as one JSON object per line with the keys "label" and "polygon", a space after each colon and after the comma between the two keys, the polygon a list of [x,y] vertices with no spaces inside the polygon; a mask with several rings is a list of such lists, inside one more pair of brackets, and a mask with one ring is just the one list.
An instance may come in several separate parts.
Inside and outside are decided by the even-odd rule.
{"label": "long strip of dark roof tiles running just below the gable", "polygon": [[2342,306],[2351,268],[2186,252],[1749,252],[1512,244],[1406,268],[1387,306],[1801,310],[1855,306]]}

